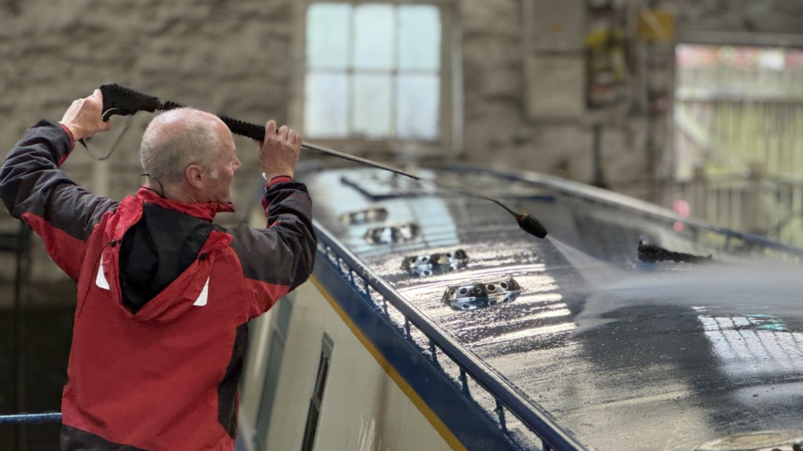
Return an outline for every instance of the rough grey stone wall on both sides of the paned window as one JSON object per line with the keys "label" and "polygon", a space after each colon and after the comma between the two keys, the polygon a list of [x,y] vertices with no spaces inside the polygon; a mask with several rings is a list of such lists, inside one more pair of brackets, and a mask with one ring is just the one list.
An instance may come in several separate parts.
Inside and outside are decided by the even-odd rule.
{"label": "rough grey stone wall on both sides of the paned window", "polygon": [[[528,120],[524,0],[456,1],[467,160],[590,182],[597,173],[592,149],[598,126],[606,182],[624,186],[622,182],[666,175],[666,116],[648,121],[648,111],[634,108],[634,102],[576,120]],[[661,0],[653,6],[672,10],[679,26],[693,30],[803,29],[801,2]],[[291,0],[0,0],[0,148],[10,148],[42,117],[59,120],[71,100],[108,81],[244,120],[284,122],[298,102],[292,95],[298,84],[291,81],[303,56],[297,39],[302,7],[303,2]],[[671,94],[672,51],[668,44],[631,55],[637,59],[633,66],[641,67],[631,78],[633,91],[646,79],[650,91]],[[76,149],[65,165],[67,173],[102,195],[120,199],[132,193],[141,182],[137,148],[148,120],[149,115],[134,116],[119,149],[106,162]],[[124,122],[116,118],[112,132],[92,140],[94,152],[108,148]],[[239,138],[237,144],[253,145]],[[255,189],[255,153],[239,155],[243,169],[234,194],[241,213],[223,221],[241,219]],[[639,189],[630,193],[647,195]],[[0,228],[14,227],[7,216],[0,220]],[[35,243],[33,276],[58,277],[39,241]],[[0,256],[0,266],[9,267],[6,257]],[[0,278],[12,274],[2,268]]]}

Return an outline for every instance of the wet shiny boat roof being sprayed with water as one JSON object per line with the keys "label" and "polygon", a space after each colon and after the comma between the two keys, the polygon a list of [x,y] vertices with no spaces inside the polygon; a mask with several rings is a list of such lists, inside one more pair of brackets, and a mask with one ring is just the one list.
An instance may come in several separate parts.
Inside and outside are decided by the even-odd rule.
{"label": "wet shiny boat roof being sprayed with water", "polygon": [[[598,290],[616,278],[642,280],[632,274],[694,274],[687,263],[638,262],[642,238],[739,262],[743,254],[722,250],[723,235],[676,231],[669,212],[656,217],[654,207],[621,197],[593,201],[560,184],[454,169],[425,176],[532,213],[549,238],[525,234],[491,202],[433,195],[426,182],[372,169],[300,178],[320,225],[590,449],[693,449],[730,433],[800,428],[803,309],[691,303],[649,278],[636,302],[625,296],[620,305]],[[381,221],[344,220],[365,209],[386,216],[373,210]],[[456,250],[467,266],[426,275],[403,267],[406,258]],[[507,278],[521,286],[510,303],[455,311],[442,301],[449,286]]]}

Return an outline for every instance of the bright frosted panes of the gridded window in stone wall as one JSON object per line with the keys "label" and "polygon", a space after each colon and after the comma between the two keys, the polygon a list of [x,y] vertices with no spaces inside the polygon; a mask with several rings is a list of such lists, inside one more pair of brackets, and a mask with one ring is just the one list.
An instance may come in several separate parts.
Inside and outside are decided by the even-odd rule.
{"label": "bright frosted panes of the gridded window in stone wall", "polygon": [[312,2],[304,136],[448,141],[444,19],[434,4]]}

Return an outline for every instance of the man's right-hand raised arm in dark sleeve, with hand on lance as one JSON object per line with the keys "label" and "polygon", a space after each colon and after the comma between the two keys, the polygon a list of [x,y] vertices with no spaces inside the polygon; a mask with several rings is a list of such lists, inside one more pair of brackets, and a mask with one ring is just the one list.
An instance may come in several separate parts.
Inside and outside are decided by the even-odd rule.
{"label": "man's right-hand raised arm in dark sleeve, with hand on lance", "polygon": [[[260,315],[288,291],[307,280],[315,262],[316,238],[312,230],[312,200],[307,187],[293,180],[301,149],[301,136],[274,121],[266,125],[259,145],[259,165],[268,183],[263,207],[266,229],[240,225],[229,230],[231,246],[243,266],[254,294],[249,317]],[[272,131],[272,132],[271,132]]]}

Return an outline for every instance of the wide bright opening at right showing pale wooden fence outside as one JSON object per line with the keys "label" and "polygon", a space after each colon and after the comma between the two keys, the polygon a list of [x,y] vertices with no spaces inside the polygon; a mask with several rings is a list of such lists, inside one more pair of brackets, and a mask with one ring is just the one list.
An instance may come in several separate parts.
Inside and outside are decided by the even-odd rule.
{"label": "wide bright opening at right showing pale wooden fence outside", "polygon": [[665,199],[684,215],[803,246],[803,39],[725,36],[732,43],[695,34],[676,47],[676,183]]}

